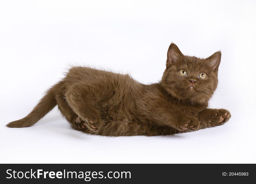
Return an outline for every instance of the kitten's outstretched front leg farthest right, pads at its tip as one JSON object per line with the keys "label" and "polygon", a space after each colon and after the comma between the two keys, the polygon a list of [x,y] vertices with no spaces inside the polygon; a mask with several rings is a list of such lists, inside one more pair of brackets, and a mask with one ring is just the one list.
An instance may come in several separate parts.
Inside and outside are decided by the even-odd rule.
{"label": "kitten's outstretched front leg farthest right, pads at its tip", "polygon": [[226,109],[204,109],[198,115],[200,121],[200,129],[223,125],[231,117]]}

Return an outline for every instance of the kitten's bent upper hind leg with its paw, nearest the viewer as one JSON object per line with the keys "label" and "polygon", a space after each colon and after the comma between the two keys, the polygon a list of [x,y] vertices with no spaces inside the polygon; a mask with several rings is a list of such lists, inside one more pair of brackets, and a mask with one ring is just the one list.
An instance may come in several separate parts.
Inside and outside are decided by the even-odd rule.
{"label": "kitten's bent upper hind leg with its paw, nearest the viewer", "polygon": [[78,115],[76,123],[82,129],[88,128],[91,132],[98,132],[103,125],[99,116],[99,101],[104,100],[107,95],[106,89],[102,92],[104,86],[87,85],[86,83],[76,83],[71,85],[66,94],[68,104]]}

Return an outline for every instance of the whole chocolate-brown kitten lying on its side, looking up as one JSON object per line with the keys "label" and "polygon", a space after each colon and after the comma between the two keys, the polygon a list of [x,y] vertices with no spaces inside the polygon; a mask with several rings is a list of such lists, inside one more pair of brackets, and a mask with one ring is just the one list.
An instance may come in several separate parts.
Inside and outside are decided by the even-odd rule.
{"label": "whole chocolate-brown kitten lying on its side, looking up", "polygon": [[35,108],[8,127],[34,125],[56,105],[75,130],[103,136],[158,136],[226,123],[225,109],[209,109],[218,84],[221,52],[185,56],[171,43],[159,83],[141,84],[128,74],[72,67]]}

